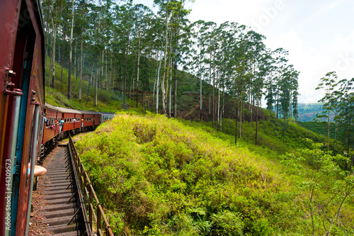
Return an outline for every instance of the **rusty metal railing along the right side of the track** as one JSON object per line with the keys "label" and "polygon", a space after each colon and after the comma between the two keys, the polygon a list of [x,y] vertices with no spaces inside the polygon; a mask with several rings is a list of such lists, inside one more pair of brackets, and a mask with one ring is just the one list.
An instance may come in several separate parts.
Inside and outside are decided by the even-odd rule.
{"label": "rusty metal railing along the right side of the track", "polygon": [[[110,225],[108,223],[107,218],[105,218],[105,213],[103,212],[101,203],[98,201],[98,198],[96,196],[95,190],[93,189],[93,186],[91,184],[91,181],[89,179],[89,175],[86,172],[86,169],[84,167],[84,164],[82,164],[81,159],[79,157],[79,154],[77,154],[76,147],[74,145],[74,142],[72,142],[72,136],[69,135],[69,146],[72,149],[72,154],[74,156],[74,164],[75,164],[75,169],[76,172],[79,176],[79,183],[81,186],[81,189],[84,191],[84,204],[87,206],[89,204],[89,224],[91,229],[93,229],[93,219],[95,220],[96,223],[96,229],[97,233],[100,236],[103,236],[103,227],[101,225],[101,218],[103,219],[103,224],[105,225],[105,235],[107,236],[114,236],[112,229],[110,228]],[[93,205],[93,199],[96,201],[96,213],[95,213],[95,208]]]}

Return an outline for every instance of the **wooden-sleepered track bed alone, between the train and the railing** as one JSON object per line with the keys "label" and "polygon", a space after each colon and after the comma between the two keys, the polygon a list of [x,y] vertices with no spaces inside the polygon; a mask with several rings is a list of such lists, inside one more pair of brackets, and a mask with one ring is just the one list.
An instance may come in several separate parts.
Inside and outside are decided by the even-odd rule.
{"label": "wooden-sleepered track bed alone, between the train and the railing", "polygon": [[45,178],[40,181],[43,230],[52,235],[87,234],[68,148],[56,147],[46,168]]}

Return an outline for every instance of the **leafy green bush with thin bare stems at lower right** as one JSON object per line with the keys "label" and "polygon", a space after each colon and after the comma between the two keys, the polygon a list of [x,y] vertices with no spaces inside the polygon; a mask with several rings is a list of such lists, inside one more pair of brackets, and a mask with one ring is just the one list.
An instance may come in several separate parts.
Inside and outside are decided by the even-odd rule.
{"label": "leafy green bush with thin bare stems at lower right", "polygon": [[302,177],[298,187],[306,193],[303,201],[308,206],[312,235],[342,235],[347,225],[341,222],[341,210],[346,201],[353,201],[354,176],[344,172],[338,162],[349,160],[327,154],[323,144],[307,142],[312,148],[285,154],[282,163],[290,167],[288,172]]}

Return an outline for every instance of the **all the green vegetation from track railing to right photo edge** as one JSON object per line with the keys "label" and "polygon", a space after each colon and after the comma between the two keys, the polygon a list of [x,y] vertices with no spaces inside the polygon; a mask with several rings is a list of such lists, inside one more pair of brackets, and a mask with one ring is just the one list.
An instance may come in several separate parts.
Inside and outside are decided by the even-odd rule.
{"label": "all the green vegetation from track railing to right photo edge", "polygon": [[322,137],[295,123],[280,145],[278,123],[260,122],[257,147],[244,124],[235,146],[207,123],[118,113],[76,147],[116,235],[353,235],[353,174],[338,168],[347,159],[299,141]]}

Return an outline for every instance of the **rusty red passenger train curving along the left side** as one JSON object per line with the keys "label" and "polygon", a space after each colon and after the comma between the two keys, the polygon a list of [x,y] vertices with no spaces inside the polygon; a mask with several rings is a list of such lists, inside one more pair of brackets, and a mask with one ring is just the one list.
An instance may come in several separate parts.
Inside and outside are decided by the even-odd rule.
{"label": "rusty red passenger train curving along the left side", "polygon": [[42,145],[58,137],[60,119],[68,133],[113,114],[45,104],[39,0],[1,0],[0,32],[0,235],[28,235],[33,169]]}

